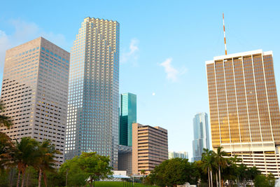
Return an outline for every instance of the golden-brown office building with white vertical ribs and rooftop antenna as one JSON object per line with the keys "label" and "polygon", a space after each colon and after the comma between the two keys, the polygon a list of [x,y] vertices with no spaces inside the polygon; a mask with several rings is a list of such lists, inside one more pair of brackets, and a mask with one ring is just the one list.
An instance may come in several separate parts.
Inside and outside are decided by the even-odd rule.
{"label": "golden-brown office building with white vertical ribs and rooftop antenna", "polygon": [[280,113],[272,51],[207,61],[212,146],[279,178]]}

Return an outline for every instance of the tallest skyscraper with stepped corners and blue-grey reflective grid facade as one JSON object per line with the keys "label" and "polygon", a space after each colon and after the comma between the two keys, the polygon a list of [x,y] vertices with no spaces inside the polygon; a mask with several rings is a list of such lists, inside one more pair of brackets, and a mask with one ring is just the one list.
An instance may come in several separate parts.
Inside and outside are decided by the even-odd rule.
{"label": "tallest skyscraper with stepped corners and blue-grey reflective grid facade", "polygon": [[66,159],[82,152],[109,155],[118,168],[120,25],[85,18],[70,57]]}

